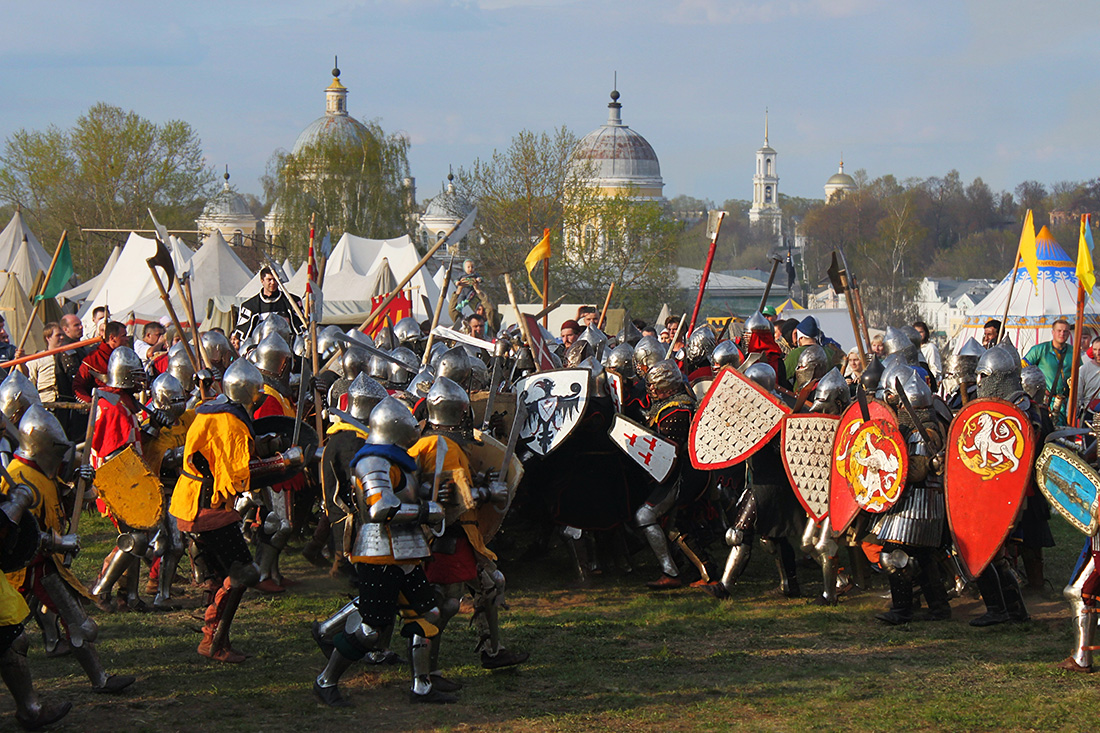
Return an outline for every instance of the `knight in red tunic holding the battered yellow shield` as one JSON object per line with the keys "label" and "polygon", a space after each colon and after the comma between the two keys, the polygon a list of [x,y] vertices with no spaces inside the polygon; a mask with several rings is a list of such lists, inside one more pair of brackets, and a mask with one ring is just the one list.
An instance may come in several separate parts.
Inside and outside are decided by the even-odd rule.
{"label": "knight in red tunic holding the battered yellow shield", "polygon": [[[130,347],[120,346],[111,352],[107,364],[107,384],[99,391],[96,403],[96,427],[91,434],[91,466],[100,468],[105,462],[127,449],[133,449],[139,457],[144,456],[143,444],[151,434],[144,430],[141,413],[148,414],[150,425],[168,427],[172,417],[155,408],[143,407],[135,395],[145,387],[145,370],[141,359]],[[150,535],[136,529],[107,510],[100,500],[100,511],[108,514],[119,530],[116,547],[103,559],[99,578],[91,587],[96,603],[103,611],[147,611],[139,594],[142,558],[148,548]],[[120,583],[121,581],[121,583]],[[111,594],[116,583],[120,583],[118,605]]]}

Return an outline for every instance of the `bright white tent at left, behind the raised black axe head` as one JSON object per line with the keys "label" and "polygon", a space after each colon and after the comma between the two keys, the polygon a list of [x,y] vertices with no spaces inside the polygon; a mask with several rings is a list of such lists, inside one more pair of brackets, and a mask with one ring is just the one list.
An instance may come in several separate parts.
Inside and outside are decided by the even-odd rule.
{"label": "bright white tent at left, behind the raised black axe head", "polygon": [[[178,238],[168,239],[167,247],[176,271],[184,272],[195,253]],[[116,320],[129,318],[131,313],[138,322],[158,320],[167,315],[160,300],[156,284],[153,282],[153,274],[145,264],[145,261],[154,254],[156,254],[156,240],[130,232],[111,274],[102,283],[99,293],[86,300],[77,314],[85,321],[85,331],[90,332],[91,311],[99,306],[106,306]],[[163,277],[164,273],[161,273],[161,276]],[[170,285],[162,284],[165,287]],[[152,306],[153,303],[156,307]],[[142,306],[141,309],[138,308],[139,305]]]}

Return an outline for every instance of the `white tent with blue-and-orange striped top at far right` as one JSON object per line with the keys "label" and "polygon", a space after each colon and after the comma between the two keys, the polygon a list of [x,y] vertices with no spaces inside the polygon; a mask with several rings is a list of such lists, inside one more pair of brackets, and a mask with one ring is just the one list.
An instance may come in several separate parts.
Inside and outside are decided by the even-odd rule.
{"label": "white tent with blue-and-orange striped top at far right", "polygon": [[[1050,325],[1058,318],[1072,322],[1077,317],[1076,265],[1062,249],[1050,230],[1043,227],[1035,236],[1038,250],[1038,287],[1023,265],[1016,271],[1016,282],[1012,288],[1012,304],[1005,333],[1012,339],[1020,353],[1036,343],[1050,340]],[[1009,297],[1010,272],[997,287],[965,316],[963,328],[955,338],[955,347],[961,347],[970,337],[979,343],[986,321],[1004,318],[1004,304]],[[1085,303],[1085,327],[1100,332],[1100,309],[1096,305],[1096,292]],[[1088,341],[1086,341],[1088,342]]]}

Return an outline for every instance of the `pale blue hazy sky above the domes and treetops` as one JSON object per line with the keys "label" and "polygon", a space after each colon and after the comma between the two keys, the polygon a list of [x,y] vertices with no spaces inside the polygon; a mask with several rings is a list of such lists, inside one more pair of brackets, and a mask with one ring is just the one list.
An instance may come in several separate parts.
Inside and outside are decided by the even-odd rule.
{"label": "pale blue hazy sky above the domes and treetops", "polygon": [[821,198],[840,156],[872,178],[994,190],[1100,176],[1100,3],[1064,0],[344,0],[6,3],[0,140],[99,101],[182,119],[209,164],[261,194],[272,153],[324,112],[404,132],[418,198],[521,130],[623,120],[664,195]]}

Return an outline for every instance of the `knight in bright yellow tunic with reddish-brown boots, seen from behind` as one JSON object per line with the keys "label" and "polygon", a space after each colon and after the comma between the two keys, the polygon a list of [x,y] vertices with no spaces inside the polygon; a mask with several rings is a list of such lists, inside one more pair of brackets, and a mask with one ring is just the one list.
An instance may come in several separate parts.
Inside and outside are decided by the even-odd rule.
{"label": "knight in bright yellow tunic with reddish-brown boots, seen from behind", "polygon": [[180,532],[193,535],[217,588],[204,614],[198,653],[239,664],[245,656],[232,647],[229,631],[244,591],[260,581],[260,569],[252,561],[233,503],[250,491],[254,473],[300,464],[302,456],[292,448],[275,459],[252,460],[256,444],[252,415],[266,394],[263,375],[251,362],[234,361],[222,376],[222,389],[221,396],[195,411],[168,511]]}

